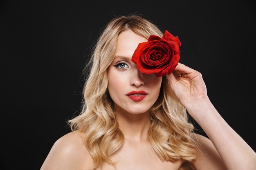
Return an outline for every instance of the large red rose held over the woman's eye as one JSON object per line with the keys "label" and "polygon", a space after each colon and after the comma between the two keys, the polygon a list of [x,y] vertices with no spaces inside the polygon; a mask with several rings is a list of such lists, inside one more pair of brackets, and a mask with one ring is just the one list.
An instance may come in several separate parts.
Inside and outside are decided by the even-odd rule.
{"label": "large red rose held over the woman's eye", "polygon": [[180,60],[180,45],[179,38],[167,30],[162,38],[150,35],[148,42],[139,43],[132,55],[132,62],[137,64],[141,73],[155,73],[157,77],[169,75]]}

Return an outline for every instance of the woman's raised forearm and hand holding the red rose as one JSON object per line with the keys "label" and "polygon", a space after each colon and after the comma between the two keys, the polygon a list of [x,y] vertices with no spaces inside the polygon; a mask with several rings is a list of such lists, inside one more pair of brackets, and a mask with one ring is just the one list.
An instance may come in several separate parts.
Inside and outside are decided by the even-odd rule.
{"label": "woman's raised forearm and hand holding the red rose", "polygon": [[[198,71],[179,63],[175,71],[166,77],[177,98],[211,140],[207,141],[207,139],[200,137],[199,142],[202,147],[211,148],[214,146],[213,149],[218,152],[221,158],[220,160],[211,160],[203,156],[198,157],[194,163],[195,167],[201,169],[199,164],[202,167],[209,163],[217,164],[217,160],[220,164],[223,163],[228,170],[255,170],[256,153],[214,108],[207,96],[202,75]],[[211,146],[211,144],[213,145]],[[209,157],[211,155],[218,157],[217,152],[209,152]]]}

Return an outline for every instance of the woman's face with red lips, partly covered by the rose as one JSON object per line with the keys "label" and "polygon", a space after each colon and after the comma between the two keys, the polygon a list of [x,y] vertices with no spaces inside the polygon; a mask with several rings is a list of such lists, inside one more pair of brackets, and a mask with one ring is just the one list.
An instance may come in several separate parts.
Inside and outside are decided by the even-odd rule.
{"label": "woman's face with red lips, partly covered by the rose", "polygon": [[118,36],[117,53],[108,67],[108,91],[117,113],[145,113],[159,96],[162,77],[139,72],[131,61],[138,44],[146,41],[131,30]]}

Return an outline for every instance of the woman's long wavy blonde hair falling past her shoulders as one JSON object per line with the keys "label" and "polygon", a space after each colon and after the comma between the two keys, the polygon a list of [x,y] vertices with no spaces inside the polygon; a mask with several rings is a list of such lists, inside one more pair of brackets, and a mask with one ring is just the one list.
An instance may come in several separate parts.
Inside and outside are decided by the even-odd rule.
{"label": "woman's long wavy blonde hair falling past her shoulders", "polygon": [[[83,88],[81,113],[68,121],[72,131],[85,134],[85,146],[94,162],[92,169],[103,162],[115,166],[110,156],[124,143],[108,93],[107,68],[114,60],[119,33],[127,29],[146,39],[150,35],[163,35],[149,20],[131,14],[110,20],[97,40],[90,60],[90,75]],[[188,123],[186,109],[169,88],[166,76],[163,76],[159,97],[150,109],[150,119],[148,140],[162,161],[195,159],[194,127]]]}

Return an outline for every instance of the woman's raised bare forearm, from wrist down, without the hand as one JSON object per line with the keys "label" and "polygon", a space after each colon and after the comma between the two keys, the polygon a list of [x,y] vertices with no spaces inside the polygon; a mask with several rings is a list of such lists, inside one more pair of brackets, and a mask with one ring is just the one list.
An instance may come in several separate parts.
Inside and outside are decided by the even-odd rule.
{"label": "woman's raised bare forearm, from wrist down, without the hand", "polygon": [[209,99],[187,106],[207,134],[228,170],[256,169],[256,153],[220,116]]}

